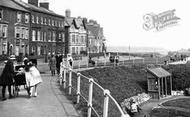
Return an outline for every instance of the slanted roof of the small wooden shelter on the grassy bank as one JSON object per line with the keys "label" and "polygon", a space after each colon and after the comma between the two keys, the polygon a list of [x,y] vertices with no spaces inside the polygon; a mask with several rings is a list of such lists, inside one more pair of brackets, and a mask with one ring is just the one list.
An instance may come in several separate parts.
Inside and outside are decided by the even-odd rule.
{"label": "slanted roof of the small wooden shelter on the grassy bank", "polygon": [[163,69],[161,67],[148,68],[148,71],[158,78],[171,76],[171,74],[169,72],[167,72],[165,69]]}

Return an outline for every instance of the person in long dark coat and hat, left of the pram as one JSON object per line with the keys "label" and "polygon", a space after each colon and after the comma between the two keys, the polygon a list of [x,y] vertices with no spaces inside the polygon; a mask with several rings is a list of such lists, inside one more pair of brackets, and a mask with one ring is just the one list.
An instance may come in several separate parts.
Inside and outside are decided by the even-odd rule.
{"label": "person in long dark coat and hat, left of the pram", "polygon": [[13,77],[14,77],[13,59],[14,58],[9,58],[0,77],[0,85],[3,86],[2,88],[3,101],[6,100],[5,97],[6,86],[8,86],[9,98],[13,97],[11,95],[11,85],[13,85]]}

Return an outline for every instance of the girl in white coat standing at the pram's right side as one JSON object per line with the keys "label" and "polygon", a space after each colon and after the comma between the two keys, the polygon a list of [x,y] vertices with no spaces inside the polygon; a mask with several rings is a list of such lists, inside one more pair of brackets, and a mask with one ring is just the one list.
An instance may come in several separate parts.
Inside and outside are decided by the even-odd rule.
{"label": "girl in white coat standing at the pram's right side", "polygon": [[42,78],[39,70],[32,62],[28,63],[28,73],[26,73],[26,80],[29,82],[30,86],[30,97],[37,97],[37,86],[42,82]]}

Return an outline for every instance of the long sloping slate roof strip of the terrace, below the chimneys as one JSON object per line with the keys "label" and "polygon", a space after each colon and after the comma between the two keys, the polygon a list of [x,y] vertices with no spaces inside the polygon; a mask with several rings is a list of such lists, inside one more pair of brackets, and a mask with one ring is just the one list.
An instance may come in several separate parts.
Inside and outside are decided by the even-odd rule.
{"label": "long sloping slate roof strip of the terrace, below the chimneys", "polygon": [[64,17],[62,15],[56,14],[52,10],[48,10],[48,9],[43,8],[43,7],[37,7],[35,5],[28,4],[28,3],[23,2],[23,1],[15,1],[15,2],[20,4],[23,7],[27,8],[27,9],[33,10],[33,11],[42,12],[42,13],[46,13],[46,14],[50,14],[50,15],[56,15],[59,17]]}

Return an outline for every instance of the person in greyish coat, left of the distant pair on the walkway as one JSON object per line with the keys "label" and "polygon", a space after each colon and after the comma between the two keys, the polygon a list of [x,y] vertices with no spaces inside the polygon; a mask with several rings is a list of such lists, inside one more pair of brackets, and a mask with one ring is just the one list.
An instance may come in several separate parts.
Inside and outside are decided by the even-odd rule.
{"label": "person in greyish coat, left of the distant pair on the walkway", "polygon": [[56,70],[56,58],[54,55],[52,55],[52,57],[49,60],[49,67],[50,67],[50,71],[51,71],[51,75],[55,76],[55,70]]}

